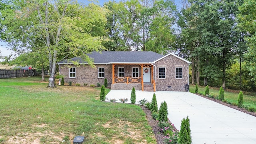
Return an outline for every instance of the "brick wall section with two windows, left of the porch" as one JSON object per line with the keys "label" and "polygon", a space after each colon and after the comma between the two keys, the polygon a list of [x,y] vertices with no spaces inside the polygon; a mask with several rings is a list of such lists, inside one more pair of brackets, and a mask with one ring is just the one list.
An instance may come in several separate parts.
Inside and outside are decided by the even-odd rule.
{"label": "brick wall section with two windows, left of the porch", "polygon": [[[112,84],[112,64],[97,64],[94,68],[91,66],[80,65],[79,67],[76,67],[76,78],[69,78],[69,69],[71,67],[76,67],[74,65],[60,65],[60,74],[64,75],[64,82],[72,82],[75,84],[80,84],[83,86],[84,84],[88,84],[90,86],[91,84],[94,84],[97,86],[97,83],[100,83],[101,85],[104,85],[105,78],[108,80],[108,87]],[[105,77],[104,78],[98,78],[98,68],[104,68]]]}

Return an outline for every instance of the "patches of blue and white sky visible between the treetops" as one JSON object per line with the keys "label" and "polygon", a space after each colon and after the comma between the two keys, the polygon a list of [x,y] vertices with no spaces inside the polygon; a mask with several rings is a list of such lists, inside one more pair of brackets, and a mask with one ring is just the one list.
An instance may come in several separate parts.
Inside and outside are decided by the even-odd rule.
{"label": "patches of blue and white sky visible between the treetops", "polygon": [[[95,1],[95,0],[78,0],[78,2],[80,3],[84,3],[86,4],[86,2],[88,1]],[[104,2],[108,2],[110,0],[98,0],[98,3],[96,2],[96,4],[100,4],[100,5],[103,5]],[[113,1],[113,0],[111,0]],[[121,0],[115,0],[116,2],[119,2]],[[174,0],[175,4],[178,6],[178,8],[180,7],[181,5],[181,0]],[[5,42],[2,42],[0,41],[0,51],[1,51],[1,55],[2,56],[8,56],[10,55],[13,51],[12,50],[8,50],[8,46]]]}

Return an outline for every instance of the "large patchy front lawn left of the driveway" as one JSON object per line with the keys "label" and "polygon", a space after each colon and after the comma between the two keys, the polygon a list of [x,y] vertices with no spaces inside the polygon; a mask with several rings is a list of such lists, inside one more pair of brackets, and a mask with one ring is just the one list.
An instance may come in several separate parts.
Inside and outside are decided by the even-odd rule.
{"label": "large patchy front lawn left of the driveway", "polygon": [[[0,80],[0,144],[155,144],[146,114],[137,105],[100,102],[100,88],[46,88],[40,77]],[[106,93],[109,89],[106,89]],[[70,140],[67,140],[67,137]]]}

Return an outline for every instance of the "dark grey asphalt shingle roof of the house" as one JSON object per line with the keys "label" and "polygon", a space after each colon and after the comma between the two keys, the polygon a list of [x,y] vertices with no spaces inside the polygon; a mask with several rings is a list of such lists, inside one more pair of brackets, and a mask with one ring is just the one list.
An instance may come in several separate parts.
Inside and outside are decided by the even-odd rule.
{"label": "dark grey asphalt shingle roof of the house", "polygon": [[[126,51],[102,51],[92,52],[87,54],[90,58],[94,59],[94,64],[108,64],[113,63],[149,63],[162,58],[163,55],[156,52],[126,52]],[[87,63],[79,57],[63,60],[58,64],[68,64],[70,61],[78,61],[79,63]]]}

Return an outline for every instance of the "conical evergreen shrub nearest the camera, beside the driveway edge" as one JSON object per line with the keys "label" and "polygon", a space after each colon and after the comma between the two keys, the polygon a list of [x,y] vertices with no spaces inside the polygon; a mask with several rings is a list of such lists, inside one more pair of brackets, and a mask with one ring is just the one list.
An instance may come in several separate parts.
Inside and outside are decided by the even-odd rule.
{"label": "conical evergreen shrub nearest the camera, beside the driveway edge", "polygon": [[189,120],[188,116],[186,119],[183,118],[181,121],[178,143],[179,144],[191,144],[192,143],[190,120]]}

